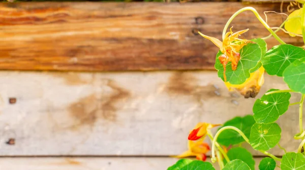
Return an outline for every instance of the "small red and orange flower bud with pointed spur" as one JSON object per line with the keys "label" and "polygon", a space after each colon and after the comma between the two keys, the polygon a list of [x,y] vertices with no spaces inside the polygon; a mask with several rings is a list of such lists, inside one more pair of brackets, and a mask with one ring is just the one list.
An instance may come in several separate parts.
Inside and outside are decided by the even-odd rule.
{"label": "small red and orange flower bud with pointed spur", "polygon": [[212,129],[221,124],[210,124],[206,122],[197,123],[195,128],[190,132],[188,139],[191,141],[196,141],[202,137],[205,137],[208,129]]}

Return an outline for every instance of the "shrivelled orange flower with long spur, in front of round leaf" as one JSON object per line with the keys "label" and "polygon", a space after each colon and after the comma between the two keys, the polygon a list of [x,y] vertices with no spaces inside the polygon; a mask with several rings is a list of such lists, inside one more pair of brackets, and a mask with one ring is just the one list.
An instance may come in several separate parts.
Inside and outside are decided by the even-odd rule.
{"label": "shrivelled orange flower with long spur, in front of round leaf", "polygon": [[212,41],[212,43],[214,43],[223,53],[223,55],[219,56],[218,59],[224,67],[225,82],[227,81],[226,65],[228,64],[228,62],[231,62],[232,70],[236,70],[237,64],[240,60],[240,54],[238,53],[239,50],[242,49],[243,46],[246,46],[248,43],[251,43],[250,40],[238,38],[238,36],[240,34],[245,33],[248,30],[249,29],[245,29],[245,30],[241,30],[241,31],[237,31],[237,32],[233,33],[232,27],[231,27],[230,32],[227,32],[225,34],[223,41],[221,41],[215,37],[207,36],[207,35],[202,34],[201,32],[198,32],[201,36]]}

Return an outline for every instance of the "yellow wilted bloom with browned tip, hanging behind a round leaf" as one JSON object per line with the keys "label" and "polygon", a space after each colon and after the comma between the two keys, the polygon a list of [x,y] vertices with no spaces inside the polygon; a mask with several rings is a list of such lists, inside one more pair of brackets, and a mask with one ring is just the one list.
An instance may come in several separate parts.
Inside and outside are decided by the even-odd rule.
{"label": "yellow wilted bloom with browned tip, hanging behind a round leaf", "polygon": [[225,82],[229,91],[238,91],[245,98],[255,98],[264,83],[265,69],[261,66],[258,70],[250,74],[250,77],[242,84],[230,84]]}

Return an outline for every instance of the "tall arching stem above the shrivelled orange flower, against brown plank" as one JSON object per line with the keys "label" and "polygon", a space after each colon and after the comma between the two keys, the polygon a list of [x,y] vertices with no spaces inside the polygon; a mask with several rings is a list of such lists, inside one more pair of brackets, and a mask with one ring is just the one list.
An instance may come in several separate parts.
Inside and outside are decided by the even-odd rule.
{"label": "tall arching stem above the shrivelled orange flower, against brown plank", "polygon": [[223,30],[223,39],[225,38],[225,34],[226,31],[230,25],[230,23],[232,22],[232,20],[240,13],[244,12],[244,11],[252,11],[254,13],[254,15],[256,16],[256,18],[264,25],[264,27],[281,43],[281,44],[286,44],[270,27],[269,25],[264,21],[264,19],[258,14],[258,12],[252,8],[252,7],[245,7],[242,8],[240,10],[238,10],[237,12],[235,12],[231,18],[228,20],[228,22],[226,23],[224,30]]}

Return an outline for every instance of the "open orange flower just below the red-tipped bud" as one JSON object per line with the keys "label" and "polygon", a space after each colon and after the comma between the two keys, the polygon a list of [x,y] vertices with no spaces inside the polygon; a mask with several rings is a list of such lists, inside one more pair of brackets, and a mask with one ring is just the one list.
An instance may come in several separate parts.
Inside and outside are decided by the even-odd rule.
{"label": "open orange flower just below the red-tipped bud", "polygon": [[185,151],[181,155],[175,156],[176,158],[185,158],[196,156],[198,160],[206,160],[206,153],[210,151],[210,147],[207,143],[203,142],[204,138],[198,141],[188,141],[188,148],[189,150]]}

